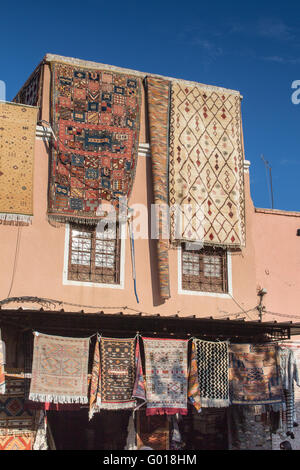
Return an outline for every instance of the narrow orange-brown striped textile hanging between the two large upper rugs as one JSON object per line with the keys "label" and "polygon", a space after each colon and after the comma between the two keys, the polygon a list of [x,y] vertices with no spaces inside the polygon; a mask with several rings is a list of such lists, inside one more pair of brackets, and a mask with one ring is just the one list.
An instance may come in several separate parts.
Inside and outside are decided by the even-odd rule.
{"label": "narrow orange-brown striped textile hanging between the two large upper rugs", "polygon": [[[170,82],[156,77],[146,78],[147,105],[149,117],[150,148],[152,162],[152,180],[154,203],[168,207],[169,181],[169,107]],[[169,227],[168,213],[164,209],[157,214],[158,240],[157,261],[159,288],[162,299],[170,297],[169,286],[169,236],[165,230]]]}

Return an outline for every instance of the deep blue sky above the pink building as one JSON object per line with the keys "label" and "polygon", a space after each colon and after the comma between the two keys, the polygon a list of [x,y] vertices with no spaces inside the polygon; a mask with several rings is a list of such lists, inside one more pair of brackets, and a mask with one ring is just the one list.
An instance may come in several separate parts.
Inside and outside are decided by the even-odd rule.
{"label": "deep blue sky above the pink building", "polygon": [[274,207],[300,211],[299,2],[5,2],[0,44],[8,100],[48,52],[239,90],[255,206],[271,207],[264,155]]}

